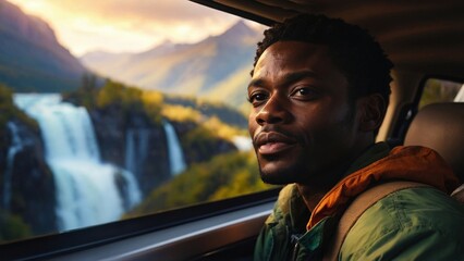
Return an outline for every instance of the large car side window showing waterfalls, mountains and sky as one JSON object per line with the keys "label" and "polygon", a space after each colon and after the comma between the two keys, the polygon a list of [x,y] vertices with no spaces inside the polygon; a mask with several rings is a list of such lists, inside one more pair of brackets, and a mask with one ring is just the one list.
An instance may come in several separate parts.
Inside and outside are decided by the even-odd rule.
{"label": "large car side window showing waterfalls, mountains and sky", "polygon": [[269,188],[261,32],[184,0],[0,1],[0,241]]}

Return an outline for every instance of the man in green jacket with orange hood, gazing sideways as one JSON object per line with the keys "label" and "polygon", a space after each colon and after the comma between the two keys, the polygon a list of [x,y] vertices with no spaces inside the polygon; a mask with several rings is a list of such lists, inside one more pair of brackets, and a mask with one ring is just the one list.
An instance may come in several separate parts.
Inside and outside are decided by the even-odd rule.
{"label": "man in green jacket with orange hood, gazing sideways", "polygon": [[[249,134],[264,182],[286,185],[255,260],[464,260],[459,181],[423,147],[375,144],[389,102],[391,62],[363,29],[300,15],[265,32],[248,100]],[[367,208],[339,249],[333,234],[358,195],[391,181],[400,189]],[[337,248],[337,249],[331,249]]]}

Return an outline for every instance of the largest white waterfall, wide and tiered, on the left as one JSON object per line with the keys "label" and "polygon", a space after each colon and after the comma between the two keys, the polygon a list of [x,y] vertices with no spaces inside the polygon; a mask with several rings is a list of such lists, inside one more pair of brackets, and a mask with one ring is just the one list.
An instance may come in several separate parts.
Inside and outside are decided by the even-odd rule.
{"label": "largest white waterfall, wide and tiered, on the left", "polygon": [[132,173],[101,162],[84,108],[62,102],[60,95],[15,95],[14,101],[40,126],[45,158],[56,182],[61,231],[119,220],[141,200]]}

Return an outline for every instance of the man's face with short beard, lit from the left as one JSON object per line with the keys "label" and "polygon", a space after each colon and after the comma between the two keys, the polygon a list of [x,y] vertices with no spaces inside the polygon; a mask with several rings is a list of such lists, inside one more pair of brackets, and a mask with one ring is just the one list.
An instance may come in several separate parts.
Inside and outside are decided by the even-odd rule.
{"label": "man's face with short beard, lit from the left", "polygon": [[345,166],[357,129],[347,88],[325,46],[279,41],[262,53],[248,129],[264,182],[314,185]]}

